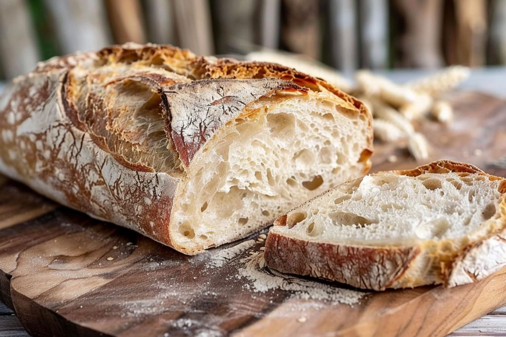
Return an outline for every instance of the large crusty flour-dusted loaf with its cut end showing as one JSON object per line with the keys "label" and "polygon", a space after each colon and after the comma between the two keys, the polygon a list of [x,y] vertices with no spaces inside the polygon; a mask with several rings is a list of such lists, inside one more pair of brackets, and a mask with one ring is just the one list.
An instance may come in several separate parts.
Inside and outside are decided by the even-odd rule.
{"label": "large crusty flour-dusted loaf with its cut end showing", "polygon": [[125,44],[40,63],[0,98],[0,172],[186,254],[365,174],[371,116],[276,64]]}

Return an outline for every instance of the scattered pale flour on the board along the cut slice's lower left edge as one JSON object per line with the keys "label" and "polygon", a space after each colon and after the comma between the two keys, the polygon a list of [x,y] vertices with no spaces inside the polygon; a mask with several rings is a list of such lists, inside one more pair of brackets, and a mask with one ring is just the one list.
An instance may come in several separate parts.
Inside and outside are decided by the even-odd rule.
{"label": "scattered pale flour on the board along the cut slice's lower left edge", "polygon": [[322,300],[331,303],[357,304],[367,293],[344,289],[309,281],[296,276],[288,276],[261,268],[265,264],[263,253],[254,253],[241,260],[244,267],[239,268],[237,278],[247,279],[250,283],[244,284],[247,290],[265,293],[270,290],[284,290],[293,292],[292,297],[305,300]]}

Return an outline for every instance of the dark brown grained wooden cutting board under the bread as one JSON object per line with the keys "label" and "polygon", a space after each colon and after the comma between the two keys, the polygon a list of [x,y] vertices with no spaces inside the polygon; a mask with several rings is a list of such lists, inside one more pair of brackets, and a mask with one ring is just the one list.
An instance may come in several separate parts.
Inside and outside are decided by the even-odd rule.
{"label": "dark brown grained wooden cutting board under the bread", "polygon": [[[494,163],[506,156],[506,101],[469,92],[451,100],[454,124],[419,126],[431,160],[506,176]],[[386,161],[393,153],[399,160]],[[373,163],[372,171],[423,164],[379,144]],[[450,289],[372,294],[283,279],[260,269],[257,236],[188,257],[0,178],[0,299],[44,336],[442,336],[506,303],[506,269]]]}

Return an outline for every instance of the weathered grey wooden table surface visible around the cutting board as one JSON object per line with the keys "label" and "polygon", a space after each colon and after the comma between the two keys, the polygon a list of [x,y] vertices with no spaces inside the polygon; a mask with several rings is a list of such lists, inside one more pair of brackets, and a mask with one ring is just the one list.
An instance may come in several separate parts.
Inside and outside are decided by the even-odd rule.
{"label": "weathered grey wooden table surface visible around the cutting board", "polygon": [[[425,71],[392,71],[386,72],[388,77],[404,81],[416,78]],[[502,81],[506,79],[506,67],[474,70],[471,78],[462,85],[466,90],[484,91],[500,97],[506,97],[502,90]],[[0,84],[0,90],[2,86]],[[16,315],[0,302],[0,337],[29,335],[19,322]],[[452,336],[463,335],[506,335],[506,307],[499,308],[476,321],[456,330]]]}

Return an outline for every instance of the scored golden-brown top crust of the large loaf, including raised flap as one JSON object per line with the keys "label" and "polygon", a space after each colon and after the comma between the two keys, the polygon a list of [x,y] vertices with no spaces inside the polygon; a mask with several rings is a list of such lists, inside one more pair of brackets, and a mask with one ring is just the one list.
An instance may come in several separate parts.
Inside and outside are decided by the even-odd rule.
{"label": "scored golden-brown top crust of the large loaf, including raised flap", "polygon": [[[204,132],[206,136],[202,136],[201,127],[194,128],[193,134],[189,134],[192,128],[186,128],[185,139],[192,141],[183,145],[183,139],[178,137],[181,130],[174,130],[173,126],[186,126],[182,119],[190,114],[192,117],[200,114],[200,121],[189,122],[194,125],[214,124],[214,129],[219,128],[225,120],[230,120],[229,112],[237,110],[234,104],[241,104],[235,98],[241,89],[244,93],[243,101],[248,97],[248,102],[277,91],[298,90],[304,93],[308,89],[328,90],[342,100],[343,107],[350,112],[369,114],[357,99],[324,80],[294,69],[271,63],[196,56],[172,45],[126,43],[106,47],[98,53],[57,57],[39,63],[28,76],[47,76],[67,70],[70,70],[68,75],[62,79],[66,97],[62,103],[69,109],[69,118],[82,131],[90,132],[101,149],[109,152],[122,165],[138,171],[166,172],[180,176],[212,132],[207,128]],[[243,88],[241,83],[234,81],[220,85],[220,81],[227,78],[244,79]],[[267,78],[270,80],[258,81]],[[171,107],[168,104],[176,97],[184,96],[178,94],[179,90],[184,90],[186,95],[198,88],[198,85],[202,92],[206,91],[206,88],[201,87],[203,84],[196,84],[196,81],[202,79],[211,81],[208,86],[216,86],[216,97],[224,97],[213,100],[205,95],[195,95],[192,98],[192,109],[184,105]],[[216,79],[219,80],[214,81]],[[22,76],[17,82],[23,80]],[[174,86],[176,84],[179,86]],[[262,90],[262,86],[265,86],[265,90]],[[224,90],[231,94],[228,99],[224,99]],[[19,95],[23,101],[23,92],[19,92]],[[231,97],[234,99],[230,100]],[[202,102],[200,105],[199,101]],[[41,102],[37,100],[32,104]],[[206,115],[209,105],[216,108],[215,113]],[[132,111],[136,112],[134,116]],[[160,112],[163,112],[164,120],[158,118]],[[180,121],[177,122],[178,120]],[[371,152],[372,129],[368,135],[368,149],[363,154],[364,162]]]}

